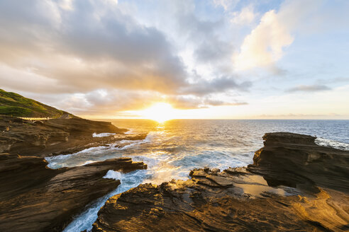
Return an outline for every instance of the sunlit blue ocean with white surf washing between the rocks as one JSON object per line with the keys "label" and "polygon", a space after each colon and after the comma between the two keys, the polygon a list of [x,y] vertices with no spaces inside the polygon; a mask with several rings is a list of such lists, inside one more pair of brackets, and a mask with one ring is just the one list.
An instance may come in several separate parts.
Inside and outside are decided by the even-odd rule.
{"label": "sunlit blue ocean with white surf washing between the rocks", "polygon": [[[108,158],[131,157],[148,164],[148,170],[118,173],[105,178],[121,180],[121,185],[101,197],[72,221],[65,231],[91,229],[106,199],[141,183],[160,184],[172,179],[185,180],[193,168],[247,166],[263,146],[267,132],[294,132],[318,137],[316,143],[349,150],[349,120],[104,120],[130,129],[128,134],[148,133],[143,140],[118,141],[78,153],[48,157],[50,168],[82,166]],[[94,134],[104,136],[108,134]]]}

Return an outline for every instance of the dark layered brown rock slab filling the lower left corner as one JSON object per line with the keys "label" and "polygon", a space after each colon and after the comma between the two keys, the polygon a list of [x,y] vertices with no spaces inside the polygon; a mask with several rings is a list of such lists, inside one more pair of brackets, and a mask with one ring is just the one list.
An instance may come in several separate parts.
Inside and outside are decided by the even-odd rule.
{"label": "dark layered brown rock slab filling the lower left corner", "polygon": [[0,154],[0,231],[62,231],[94,199],[120,184],[108,170],[145,169],[131,158],[115,158],[51,170],[43,158]]}

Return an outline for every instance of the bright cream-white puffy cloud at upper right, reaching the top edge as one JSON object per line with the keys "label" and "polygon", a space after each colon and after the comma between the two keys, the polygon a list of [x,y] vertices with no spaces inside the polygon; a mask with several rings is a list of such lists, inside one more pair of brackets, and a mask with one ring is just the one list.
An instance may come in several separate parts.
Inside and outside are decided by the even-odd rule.
{"label": "bright cream-white puffy cloud at upper right, reaching the top edge", "polygon": [[284,47],[294,41],[292,32],[308,19],[319,4],[316,0],[285,1],[279,11],[267,11],[257,27],[243,40],[240,52],[233,55],[236,69],[246,70],[275,64],[282,58]]}

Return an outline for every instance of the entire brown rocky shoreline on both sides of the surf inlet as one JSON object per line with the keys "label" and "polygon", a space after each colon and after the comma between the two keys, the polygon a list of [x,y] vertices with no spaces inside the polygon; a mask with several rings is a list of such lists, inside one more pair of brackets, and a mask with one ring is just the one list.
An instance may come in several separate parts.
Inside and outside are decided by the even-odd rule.
{"label": "entire brown rocky shoreline on both sides of the surf inlet", "polygon": [[[109,122],[80,118],[0,117],[0,231],[62,231],[120,185],[103,178],[108,170],[147,168],[113,158],[52,170],[46,156],[146,134],[130,136]],[[189,180],[143,184],[109,198],[92,231],[348,231],[349,151],[318,146],[302,134],[263,139],[248,167],[194,169]]]}

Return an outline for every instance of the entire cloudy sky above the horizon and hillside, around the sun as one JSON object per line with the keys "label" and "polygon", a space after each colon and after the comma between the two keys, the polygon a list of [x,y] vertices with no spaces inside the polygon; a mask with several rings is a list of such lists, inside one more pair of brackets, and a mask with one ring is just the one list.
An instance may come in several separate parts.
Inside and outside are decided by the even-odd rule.
{"label": "entire cloudy sky above the horizon and hillside, around the sun", "polygon": [[87,118],[349,119],[349,1],[1,0],[0,88]]}

